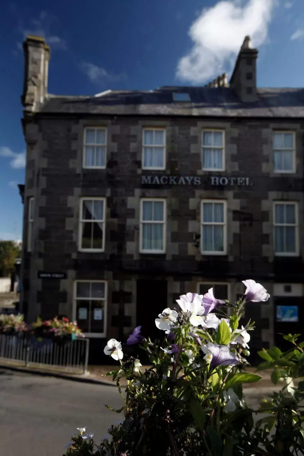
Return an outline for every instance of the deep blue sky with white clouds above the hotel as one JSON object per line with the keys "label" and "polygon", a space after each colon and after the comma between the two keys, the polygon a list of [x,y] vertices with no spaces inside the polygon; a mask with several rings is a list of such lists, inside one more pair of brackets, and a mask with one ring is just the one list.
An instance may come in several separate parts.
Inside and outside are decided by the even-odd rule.
{"label": "deep blue sky with white clouds above the hotel", "polygon": [[51,46],[49,93],[204,84],[231,75],[245,35],[259,87],[304,87],[304,0],[19,0],[1,6],[0,30],[0,239],[22,237],[26,34]]}

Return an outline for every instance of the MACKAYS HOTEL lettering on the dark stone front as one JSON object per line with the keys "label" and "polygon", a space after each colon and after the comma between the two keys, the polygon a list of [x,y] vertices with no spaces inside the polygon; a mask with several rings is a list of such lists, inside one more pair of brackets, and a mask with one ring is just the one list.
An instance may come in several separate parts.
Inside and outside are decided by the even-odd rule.
{"label": "MACKAYS HOTEL lettering on the dark stone front", "polygon": [[[226,177],[226,176],[210,176],[211,185],[218,186],[252,186],[253,182],[249,177]],[[206,183],[202,176],[151,176],[142,175],[142,185],[190,185],[200,186]]]}

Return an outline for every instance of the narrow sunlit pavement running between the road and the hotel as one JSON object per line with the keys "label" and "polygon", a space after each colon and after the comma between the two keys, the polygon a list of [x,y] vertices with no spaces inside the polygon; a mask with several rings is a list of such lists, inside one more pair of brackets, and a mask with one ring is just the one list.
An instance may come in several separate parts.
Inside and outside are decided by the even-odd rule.
{"label": "narrow sunlit pavement running between the road and the hotel", "polygon": [[[149,369],[151,366],[143,366],[143,369]],[[14,362],[14,361],[0,361],[0,369],[10,369],[17,372],[31,373],[36,375],[51,376],[57,378],[65,378],[67,380],[73,380],[83,383],[95,383],[108,386],[116,387],[116,382],[112,382],[112,377],[103,377],[106,373],[111,370],[115,370],[119,366],[88,366],[88,372],[86,374],[71,373],[64,371],[62,368],[51,368],[50,366],[41,366],[30,364],[29,367]],[[244,383],[243,392],[247,396],[263,397],[271,394],[273,391],[279,391],[283,387],[283,383],[274,385],[271,382],[271,372],[263,371],[257,372],[256,368],[247,368],[250,373],[257,373],[261,375],[262,379],[258,383]],[[122,380],[121,385],[125,386],[126,381]]]}

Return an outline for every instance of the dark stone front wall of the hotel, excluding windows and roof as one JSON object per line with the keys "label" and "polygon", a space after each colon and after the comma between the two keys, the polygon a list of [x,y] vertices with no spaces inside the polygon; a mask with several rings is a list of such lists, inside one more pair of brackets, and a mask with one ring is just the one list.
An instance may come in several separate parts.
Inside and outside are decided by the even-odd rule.
{"label": "dark stone front wall of the hotel, excluding windows and roof", "polygon": [[[108,128],[107,168],[82,169],[85,126]],[[200,176],[199,187],[190,185],[141,185],[142,129],[166,128],[166,170],[149,175]],[[222,128],[226,135],[226,171],[201,170],[201,130]],[[297,139],[295,175],[272,171],[272,131],[294,130]],[[168,281],[168,300],[192,289],[200,280],[231,281],[253,278],[263,284],[303,281],[303,129],[287,120],[270,124],[251,119],[220,122],[204,119],[77,119],[40,117],[26,125],[27,166],[24,211],[23,301],[29,319],[37,314],[51,317],[73,315],[73,282],[80,279],[108,281],[108,337],[118,326],[124,332],[136,324],[136,280],[160,275]],[[248,177],[252,185],[211,185],[211,176]],[[237,182],[237,181],[235,181]],[[28,198],[35,197],[33,250],[26,252]],[[103,253],[78,252],[80,197],[106,197],[106,235]],[[165,254],[139,254],[139,199],[167,200],[167,248]],[[227,201],[227,255],[202,256],[196,244],[200,233],[200,201]],[[280,268],[273,256],[272,207],[275,200],[299,202],[300,256],[284,259]],[[276,266],[275,266],[276,265]],[[37,271],[61,271],[65,280],[41,280]],[[196,288],[196,285],[195,285]],[[119,292],[122,295],[119,295]],[[173,299],[174,298],[174,299]],[[268,310],[267,310],[268,309]],[[262,322],[259,340],[271,338],[272,312],[268,306],[254,310]],[[121,323],[124,321],[124,323]]]}

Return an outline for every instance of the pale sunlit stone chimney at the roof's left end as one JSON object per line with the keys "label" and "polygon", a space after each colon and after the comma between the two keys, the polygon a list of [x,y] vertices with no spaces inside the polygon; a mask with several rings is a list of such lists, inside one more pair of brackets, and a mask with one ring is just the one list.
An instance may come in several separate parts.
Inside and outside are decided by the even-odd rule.
{"label": "pale sunlit stone chimney at the roof's left end", "polygon": [[23,95],[24,110],[38,111],[47,93],[50,48],[41,36],[29,35],[23,43],[25,67]]}

